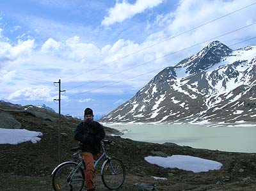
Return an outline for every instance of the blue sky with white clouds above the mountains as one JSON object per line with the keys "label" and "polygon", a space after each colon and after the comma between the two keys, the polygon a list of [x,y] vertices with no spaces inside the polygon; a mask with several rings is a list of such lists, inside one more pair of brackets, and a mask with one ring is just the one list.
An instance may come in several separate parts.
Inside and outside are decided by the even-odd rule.
{"label": "blue sky with white clouds above the mountains", "polygon": [[108,114],[213,40],[255,45],[255,8],[255,0],[0,0],[0,100],[58,112],[60,79],[61,114]]}

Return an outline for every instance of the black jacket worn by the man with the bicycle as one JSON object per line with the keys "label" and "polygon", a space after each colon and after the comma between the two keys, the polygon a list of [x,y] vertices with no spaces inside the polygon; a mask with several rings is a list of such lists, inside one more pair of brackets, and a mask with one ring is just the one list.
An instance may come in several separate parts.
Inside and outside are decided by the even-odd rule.
{"label": "black jacket worn by the man with the bicycle", "polygon": [[97,121],[81,122],[76,126],[74,138],[82,143],[82,150],[93,154],[100,153],[100,141],[105,137],[102,125]]}

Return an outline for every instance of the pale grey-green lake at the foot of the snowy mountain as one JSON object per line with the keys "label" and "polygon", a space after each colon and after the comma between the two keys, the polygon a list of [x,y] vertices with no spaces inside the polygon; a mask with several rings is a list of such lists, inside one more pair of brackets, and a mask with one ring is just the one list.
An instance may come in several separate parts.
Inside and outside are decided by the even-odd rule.
{"label": "pale grey-green lake at the foot of the snowy mountain", "polygon": [[256,125],[106,125],[134,141],[174,142],[193,148],[256,153]]}

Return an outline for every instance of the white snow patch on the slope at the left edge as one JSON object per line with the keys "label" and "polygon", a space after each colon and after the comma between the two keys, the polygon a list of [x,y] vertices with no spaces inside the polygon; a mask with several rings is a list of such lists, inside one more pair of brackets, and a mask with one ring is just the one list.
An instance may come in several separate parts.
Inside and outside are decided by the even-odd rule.
{"label": "white snow patch on the slope at the left edge", "polygon": [[0,128],[0,144],[19,144],[21,142],[31,141],[36,143],[41,139],[41,132],[32,132],[26,129]]}

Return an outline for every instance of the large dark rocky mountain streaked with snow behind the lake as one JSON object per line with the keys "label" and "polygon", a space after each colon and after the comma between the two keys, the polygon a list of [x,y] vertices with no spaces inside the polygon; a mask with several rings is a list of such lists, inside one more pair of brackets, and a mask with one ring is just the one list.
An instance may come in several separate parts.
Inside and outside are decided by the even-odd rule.
{"label": "large dark rocky mountain streaked with snow behind the lake", "polygon": [[256,121],[256,46],[214,41],[159,72],[104,122]]}

